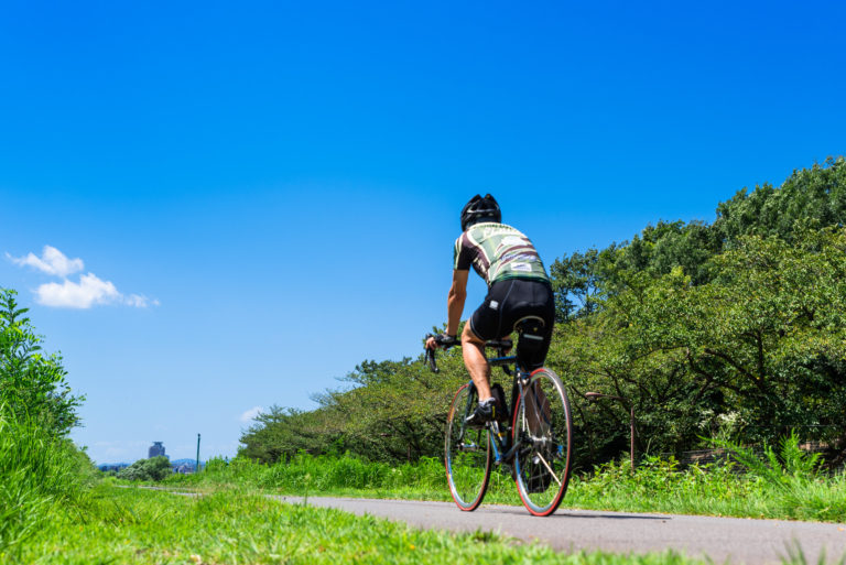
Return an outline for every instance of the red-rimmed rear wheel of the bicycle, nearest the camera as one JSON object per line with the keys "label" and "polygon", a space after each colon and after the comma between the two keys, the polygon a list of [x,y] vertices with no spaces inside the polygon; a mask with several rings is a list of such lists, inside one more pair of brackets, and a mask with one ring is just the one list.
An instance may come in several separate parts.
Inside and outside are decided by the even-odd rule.
{"label": "red-rimmed rear wheel of the bicycle, nearest the camera", "polygon": [[570,400],[557,374],[538,369],[514,409],[517,490],[534,515],[550,515],[567,491],[573,452]]}

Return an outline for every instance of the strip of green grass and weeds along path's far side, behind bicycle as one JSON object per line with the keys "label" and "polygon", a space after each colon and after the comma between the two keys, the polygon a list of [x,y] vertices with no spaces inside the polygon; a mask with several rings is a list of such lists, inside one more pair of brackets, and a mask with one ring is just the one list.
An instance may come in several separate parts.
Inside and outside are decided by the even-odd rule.
{"label": "strip of green grass and weeds along path's far side, behind bicycle", "polygon": [[[846,521],[846,476],[801,475],[776,481],[736,467],[679,470],[674,460],[650,458],[633,475],[628,463],[609,464],[571,481],[563,508],[639,512]],[[352,457],[300,456],[290,464],[209,461],[206,471],[175,476],[171,485],[247,485],[290,495],[336,495],[451,500],[443,464],[424,458],[391,467]],[[486,503],[520,504],[510,475],[496,469]]]}

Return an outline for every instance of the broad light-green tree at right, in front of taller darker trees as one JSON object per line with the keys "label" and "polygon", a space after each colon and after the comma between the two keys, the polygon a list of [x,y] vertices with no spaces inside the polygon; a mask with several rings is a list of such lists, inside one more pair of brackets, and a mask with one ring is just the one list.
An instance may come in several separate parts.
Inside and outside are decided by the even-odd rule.
{"label": "broad light-green tree at right, in front of taller darker trees", "polygon": [[798,231],[793,243],[742,236],[708,269],[707,284],[677,268],[606,304],[619,367],[631,374],[662,359],[664,373],[695,383],[690,410],[708,414],[709,426],[731,413],[748,438],[771,441],[792,426],[806,437],[844,435],[846,231]]}

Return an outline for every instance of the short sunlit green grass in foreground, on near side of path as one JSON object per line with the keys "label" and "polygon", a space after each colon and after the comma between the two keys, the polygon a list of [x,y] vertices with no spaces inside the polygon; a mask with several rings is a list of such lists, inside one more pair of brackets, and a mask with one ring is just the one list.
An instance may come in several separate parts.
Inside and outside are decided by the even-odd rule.
{"label": "short sunlit green grass in foreground, on near side of path", "polygon": [[199,498],[104,485],[82,514],[59,512],[12,559],[26,564],[486,563],[686,565],[649,555],[560,554],[490,533],[451,534],[282,504],[245,489]]}

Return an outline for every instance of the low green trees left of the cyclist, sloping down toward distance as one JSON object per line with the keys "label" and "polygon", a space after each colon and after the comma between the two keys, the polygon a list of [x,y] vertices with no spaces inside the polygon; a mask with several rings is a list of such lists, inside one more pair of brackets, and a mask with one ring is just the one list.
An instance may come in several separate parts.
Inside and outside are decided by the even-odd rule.
{"label": "low green trees left of the cyclist, sloping down toward distance", "polygon": [[443,423],[451,394],[466,381],[456,351],[438,361],[435,374],[421,362],[365,361],[337,390],[314,396],[319,408],[274,406],[242,436],[239,455],[262,461],[289,459],[297,452],[350,452],[373,460],[416,460],[443,448]]}

